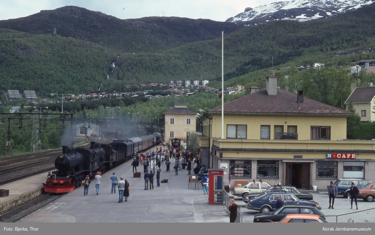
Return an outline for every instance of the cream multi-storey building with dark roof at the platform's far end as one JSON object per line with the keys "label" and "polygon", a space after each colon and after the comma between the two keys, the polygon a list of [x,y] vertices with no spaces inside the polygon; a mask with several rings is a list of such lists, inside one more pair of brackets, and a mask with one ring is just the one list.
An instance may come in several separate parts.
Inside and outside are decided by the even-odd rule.
{"label": "cream multi-storey building with dark roof at the platform's far end", "polygon": [[180,140],[180,144],[186,144],[187,136],[195,133],[196,112],[186,105],[178,104],[173,109],[163,113],[165,120],[164,141],[171,144],[172,140]]}

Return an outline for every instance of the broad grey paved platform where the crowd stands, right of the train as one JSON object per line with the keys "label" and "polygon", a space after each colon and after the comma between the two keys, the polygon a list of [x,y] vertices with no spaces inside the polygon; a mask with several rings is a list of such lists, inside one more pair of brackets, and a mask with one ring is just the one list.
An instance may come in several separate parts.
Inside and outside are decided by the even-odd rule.
{"label": "broad grey paved platform where the crowd stands, right of the train", "polygon": [[[195,190],[193,185],[193,189],[188,189],[187,170],[179,171],[175,176],[173,166],[171,172],[166,173],[163,164],[160,179],[168,178],[169,181],[156,187],[154,177],[153,190],[144,190],[143,167],[138,167],[137,171],[141,172],[141,178],[133,178],[131,161],[125,162],[102,174],[99,195],[96,195],[92,181],[89,196],[83,196],[83,187],[80,187],[20,222],[229,222],[222,205],[208,205],[208,195],[203,195],[201,187]],[[127,202],[117,203],[117,190],[116,194],[111,194],[112,172],[128,180]]]}

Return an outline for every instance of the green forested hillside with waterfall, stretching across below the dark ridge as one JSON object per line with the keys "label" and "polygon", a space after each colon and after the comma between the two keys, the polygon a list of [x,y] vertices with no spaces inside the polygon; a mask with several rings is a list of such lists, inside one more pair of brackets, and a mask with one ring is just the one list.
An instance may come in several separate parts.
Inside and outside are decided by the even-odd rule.
{"label": "green forested hillside with waterfall, stretching across below the dark ridge", "polygon": [[[271,67],[272,56],[277,66],[309,53],[333,56],[347,48],[374,46],[374,18],[375,4],[371,4],[320,21],[273,21],[225,34],[225,80]],[[221,78],[221,39],[162,53],[122,53],[110,79],[105,80],[117,54],[102,46],[60,36],[0,34],[0,86],[4,90],[69,94],[97,91],[101,83],[101,91],[120,91],[126,84]]]}

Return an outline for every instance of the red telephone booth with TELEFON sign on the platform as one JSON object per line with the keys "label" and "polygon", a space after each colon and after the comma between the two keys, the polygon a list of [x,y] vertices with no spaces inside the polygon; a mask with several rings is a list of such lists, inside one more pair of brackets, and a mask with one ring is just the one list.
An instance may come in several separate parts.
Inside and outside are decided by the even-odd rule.
{"label": "red telephone booth with TELEFON sign on the platform", "polygon": [[223,204],[224,170],[208,169],[208,204]]}

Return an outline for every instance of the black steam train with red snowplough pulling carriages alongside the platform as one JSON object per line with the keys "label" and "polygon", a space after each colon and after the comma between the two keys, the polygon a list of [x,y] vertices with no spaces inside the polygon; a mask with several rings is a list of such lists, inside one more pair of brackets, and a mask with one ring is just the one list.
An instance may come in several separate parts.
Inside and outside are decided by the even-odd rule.
{"label": "black steam train with red snowplough pulling carriages alongside the platform", "polygon": [[62,154],[55,159],[56,170],[49,172],[43,183],[45,192],[68,193],[82,185],[88,175],[104,173],[131,159],[133,154],[143,152],[161,143],[161,134],[114,140],[110,144],[91,142],[90,147],[62,146]]}

